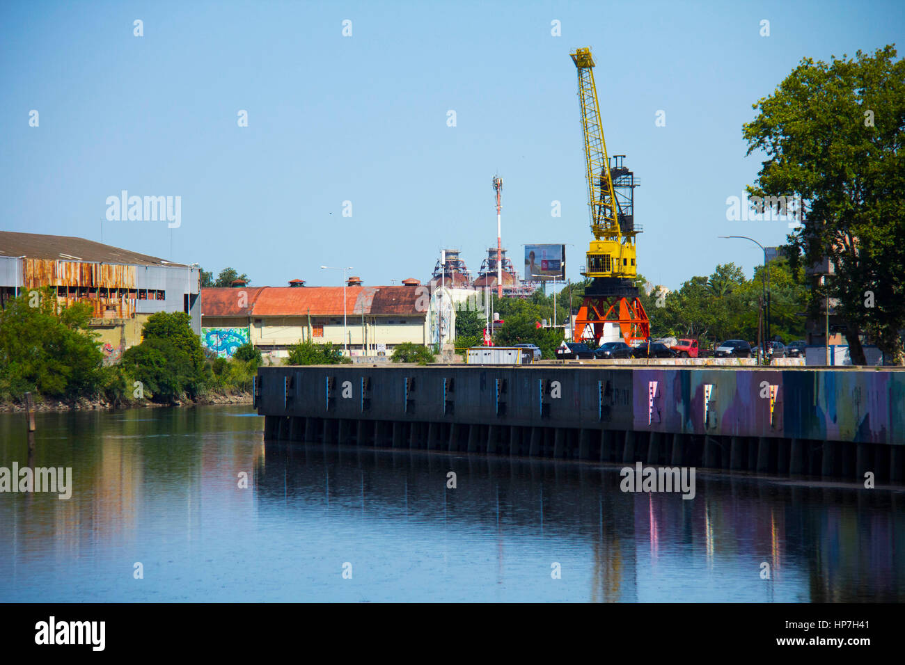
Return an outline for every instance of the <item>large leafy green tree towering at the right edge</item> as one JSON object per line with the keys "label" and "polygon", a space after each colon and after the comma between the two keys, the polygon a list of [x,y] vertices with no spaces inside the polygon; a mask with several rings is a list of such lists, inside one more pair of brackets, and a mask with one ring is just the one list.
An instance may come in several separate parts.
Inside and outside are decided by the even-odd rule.
{"label": "large leafy green tree towering at the right edge", "polygon": [[812,315],[824,295],[839,300],[856,365],[865,363],[862,333],[903,359],[905,62],[895,58],[891,45],[853,60],[805,58],[743,127],[748,155],[767,157],[749,194],[805,202],[806,223],[789,235],[792,257],[833,261]]}

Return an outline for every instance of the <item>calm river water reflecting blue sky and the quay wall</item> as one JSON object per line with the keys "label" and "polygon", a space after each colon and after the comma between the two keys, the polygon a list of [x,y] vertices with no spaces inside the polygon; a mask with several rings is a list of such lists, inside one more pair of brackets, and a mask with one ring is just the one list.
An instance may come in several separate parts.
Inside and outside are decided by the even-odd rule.
{"label": "calm river water reflecting blue sky and the quay wall", "polygon": [[905,600],[905,491],[623,493],[612,465],[265,443],[248,406],[37,423],[31,466],[71,467],[71,499],[0,494],[0,601]]}

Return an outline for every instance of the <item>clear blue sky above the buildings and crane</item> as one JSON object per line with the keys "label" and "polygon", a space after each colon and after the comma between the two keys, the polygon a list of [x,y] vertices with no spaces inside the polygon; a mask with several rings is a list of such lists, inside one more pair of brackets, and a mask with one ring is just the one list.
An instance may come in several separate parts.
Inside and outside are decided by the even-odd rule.
{"label": "clear blue sky above the buildings and crane", "polygon": [[[788,232],[726,221],[759,167],[741,138],[751,104],[802,57],[903,36],[901,2],[7,1],[0,228],[100,241],[102,226],[103,242],[255,285],[339,283],[321,264],[425,280],[443,246],[476,272],[496,244],[499,171],[517,267],[523,244],[563,242],[578,280],[590,233],[569,52],[590,46],[607,147],[642,182],[639,271],[670,288],[718,262],[750,275],[757,247],[717,236]],[[181,226],[106,221],[123,189],[181,196]]]}

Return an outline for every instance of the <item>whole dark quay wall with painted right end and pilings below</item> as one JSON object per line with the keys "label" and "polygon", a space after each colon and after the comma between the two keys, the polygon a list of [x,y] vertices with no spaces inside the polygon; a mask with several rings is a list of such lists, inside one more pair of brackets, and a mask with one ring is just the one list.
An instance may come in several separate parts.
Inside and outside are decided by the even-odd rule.
{"label": "whole dark quay wall with painted right end and pilings below", "polygon": [[271,438],[902,480],[905,373],[262,367]]}

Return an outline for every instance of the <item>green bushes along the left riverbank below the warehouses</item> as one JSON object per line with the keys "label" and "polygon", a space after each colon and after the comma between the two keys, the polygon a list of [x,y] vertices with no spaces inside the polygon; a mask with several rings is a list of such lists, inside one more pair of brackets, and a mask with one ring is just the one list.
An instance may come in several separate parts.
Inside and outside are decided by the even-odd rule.
{"label": "green bushes along the left riverbank below the warehouses", "polygon": [[183,312],[152,314],[143,339],[117,365],[105,365],[89,325],[90,306],[62,306],[53,290],[27,293],[0,311],[0,404],[25,393],[42,401],[110,406],[176,404],[249,394],[261,353],[208,357]]}

